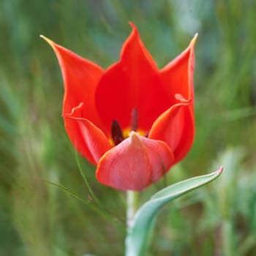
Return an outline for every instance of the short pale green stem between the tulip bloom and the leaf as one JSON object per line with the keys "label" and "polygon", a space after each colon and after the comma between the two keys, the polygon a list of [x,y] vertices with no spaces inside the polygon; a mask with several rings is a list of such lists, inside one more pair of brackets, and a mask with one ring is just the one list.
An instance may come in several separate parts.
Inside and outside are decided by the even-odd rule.
{"label": "short pale green stem between the tulip bloom and the leaf", "polygon": [[133,225],[133,219],[138,208],[138,192],[127,191],[127,229]]}

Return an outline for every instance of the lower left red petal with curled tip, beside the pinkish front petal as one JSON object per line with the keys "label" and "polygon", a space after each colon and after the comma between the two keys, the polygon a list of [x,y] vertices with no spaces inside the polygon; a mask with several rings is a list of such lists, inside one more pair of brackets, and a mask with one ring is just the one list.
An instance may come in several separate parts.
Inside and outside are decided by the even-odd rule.
{"label": "lower left red petal with curled tip, beside the pinkish front petal", "polygon": [[108,138],[91,121],[81,118],[83,103],[72,109],[72,113],[64,114],[64,121],[69,139],[83,157],[94,165],[97,165],[100,157],[108,151],[111,146]]}

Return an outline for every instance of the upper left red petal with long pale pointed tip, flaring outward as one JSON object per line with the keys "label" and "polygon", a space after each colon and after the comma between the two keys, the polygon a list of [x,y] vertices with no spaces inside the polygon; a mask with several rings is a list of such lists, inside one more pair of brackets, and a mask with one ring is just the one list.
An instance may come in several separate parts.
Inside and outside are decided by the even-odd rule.
{"label": "upper left red petal with long pale pointed tip, flaring outward", "polygon": [[50,39],[43,37],[53,48],[59,60],[61,72],[64,80],[64,101],[63,113],[70,113],[83,102],[86,108],[83,108],[82,116],[104,129],[97,110],[95,108],[95,89],[99,78],[103,74],[103,69],[97,64],[87,59],[83,59],[61,45],[57,45]]}

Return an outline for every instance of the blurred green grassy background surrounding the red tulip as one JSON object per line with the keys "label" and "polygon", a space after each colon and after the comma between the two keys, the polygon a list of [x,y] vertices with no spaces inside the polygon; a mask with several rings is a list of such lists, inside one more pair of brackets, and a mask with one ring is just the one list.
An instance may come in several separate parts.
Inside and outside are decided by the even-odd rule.
{"label": "blurred green grassy background surrounding the red tulip", "polygon": [[[108,67],[131,20],[159,67],[196,32],[197,135],[168,184],[222,176],[164,208],[148,255],[256,255],[256,1],[1,0],[0,255],[124,255],[125,195],[83,172],[112,214],[98,214],[61,118],[63,86],[39,34]],[[157,186],[146,189],[140,203]]]}

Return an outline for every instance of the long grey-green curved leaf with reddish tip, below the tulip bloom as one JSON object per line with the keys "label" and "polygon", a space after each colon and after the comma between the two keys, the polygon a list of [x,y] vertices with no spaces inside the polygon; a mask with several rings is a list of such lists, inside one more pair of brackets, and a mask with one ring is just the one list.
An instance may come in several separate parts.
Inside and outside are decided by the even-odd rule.
{"label": "long grey-green curved leaf with reddish tip, below the tulip bloom", "polygon": [[148,202],[141,206],[135,214],[132,227],[129,228],[126,239],[126,256],[143,256],[148,249],[157,213],[166,203],[185,195],[187,192],[202,187],[219,177],[223,168],[214,173],[173,184],[154,194]]}

